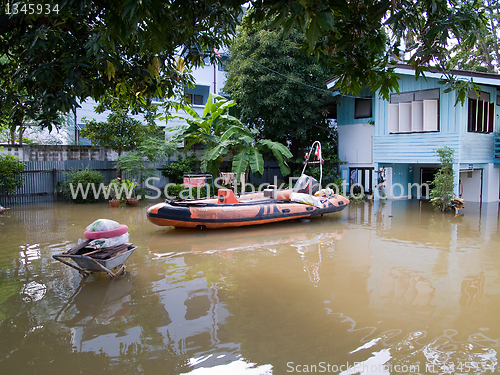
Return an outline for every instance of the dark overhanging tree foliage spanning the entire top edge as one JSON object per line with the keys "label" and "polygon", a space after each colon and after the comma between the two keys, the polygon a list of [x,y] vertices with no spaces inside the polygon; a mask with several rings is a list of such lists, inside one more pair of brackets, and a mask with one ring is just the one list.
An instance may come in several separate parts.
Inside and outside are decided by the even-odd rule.
{"label": "dark overhanging tree foliage spanning the entire top edge", "polygon": [[[205,53],[215,58],[213,49],[229,43],[247,3],[256,10],[254,22],[276,19],[285,31],[298,26],[308,51],[335,58],[332,76],[342,91],[368,85],[385,96],[398,86],[391,59],[402,41],[410,41],[403,50],[411,53],[408,62],[418,76],[430,62],[444,69],[450,40],[472,45],[475,36],[466,31],[485,25],[480,2],[461,0],[49,3],[49,12],[30,15],[19,9],[24,3],[0,0],[2,65],[13,72],[15,86],[28,93],[29,118],[49,128],[60,112],[89,96],[98,101],[113,93],[134,102],[182,91],[189,76],[182,67],[189,72]],[[0,101],[6,77],[0,74]],[[453,88],[468,92],[451,78]]]}

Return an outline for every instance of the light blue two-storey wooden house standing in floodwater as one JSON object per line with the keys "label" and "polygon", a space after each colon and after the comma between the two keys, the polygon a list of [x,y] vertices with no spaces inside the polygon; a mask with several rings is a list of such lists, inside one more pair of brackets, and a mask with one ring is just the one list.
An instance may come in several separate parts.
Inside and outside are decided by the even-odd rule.
{"label": "light blue two-storey wooden house standing in floodwater", "polygon": [[369,89],[359,97],[340,98],[339,157],[347,162],[342,178],[376,192],[375,199],[425,198],[425,184],[440,166],[434,150],[447,146],[454,150],[455,194],[469,202],[498,201],[500,75],[454,71],[481,88],[462,105],[456,104],[456,92],[444,92],[441,73],[416,80],[405,65],[398,65],[396,73],[400,93],[390,100]]}

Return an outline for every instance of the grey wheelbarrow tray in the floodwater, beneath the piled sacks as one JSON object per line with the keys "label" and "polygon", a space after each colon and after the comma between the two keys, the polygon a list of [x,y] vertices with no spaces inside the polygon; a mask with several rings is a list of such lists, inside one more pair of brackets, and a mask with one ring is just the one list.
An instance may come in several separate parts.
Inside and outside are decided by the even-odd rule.
{"label": "grey wheelbarrow tray in the floodwater, beneath the piled sacks", "polygon": [[76,269],[84,277],[92,272],[106,272],[115,277],[123,273],[125,261],[137,249],[131,243],[99,249],[90,247],[89,243],[90,240],[84,241],[64,253],[52,255],[52,258]]}

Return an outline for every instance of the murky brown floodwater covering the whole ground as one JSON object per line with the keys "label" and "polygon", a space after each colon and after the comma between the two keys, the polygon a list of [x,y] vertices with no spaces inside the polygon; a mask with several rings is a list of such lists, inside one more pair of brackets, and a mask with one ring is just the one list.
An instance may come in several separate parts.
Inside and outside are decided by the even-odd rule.
{"label": "murky brown floodwater covering the whole ground", "polygon": [[[498,204],[351,204],[192,231],[146,205],[0,215],[2,374],[499,373]],[[139,246],[110,280],[52,259],[98,218]]]}

